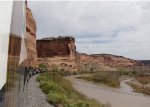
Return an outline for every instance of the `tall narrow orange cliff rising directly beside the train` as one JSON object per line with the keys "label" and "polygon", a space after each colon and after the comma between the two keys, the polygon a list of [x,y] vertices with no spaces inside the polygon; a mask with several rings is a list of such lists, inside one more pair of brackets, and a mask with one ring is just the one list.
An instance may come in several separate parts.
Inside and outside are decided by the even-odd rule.
{"label": "tall narrow orange cliff rising directly beside the train", "polygon": [[28,63],[32,67],[37,67],[36,51],[36,22],[31,10],[26,6],[26,48]]}

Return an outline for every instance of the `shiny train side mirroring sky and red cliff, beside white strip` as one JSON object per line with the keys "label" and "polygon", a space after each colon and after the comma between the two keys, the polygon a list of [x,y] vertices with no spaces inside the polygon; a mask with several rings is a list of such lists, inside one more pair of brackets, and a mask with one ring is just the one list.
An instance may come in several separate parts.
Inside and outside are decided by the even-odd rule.
{"label": "shiny train side mirroring sky and red cliff, beside white strip", "polygon": [[[25,47],[24,1],[14,1],[9,36],[8,69],[5,89],[5,107],[22,107],[24,98]],[[23,53],[23,54],[22,54]]]}

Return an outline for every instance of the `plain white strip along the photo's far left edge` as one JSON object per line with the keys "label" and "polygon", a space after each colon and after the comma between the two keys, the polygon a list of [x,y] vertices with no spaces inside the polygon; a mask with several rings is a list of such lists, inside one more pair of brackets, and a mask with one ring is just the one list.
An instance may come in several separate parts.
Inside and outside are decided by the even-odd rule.
{"label": "plain white strip along the photo's far left edge", "polygon": [[12,1],[0,1],[0,90],[6,83]]}

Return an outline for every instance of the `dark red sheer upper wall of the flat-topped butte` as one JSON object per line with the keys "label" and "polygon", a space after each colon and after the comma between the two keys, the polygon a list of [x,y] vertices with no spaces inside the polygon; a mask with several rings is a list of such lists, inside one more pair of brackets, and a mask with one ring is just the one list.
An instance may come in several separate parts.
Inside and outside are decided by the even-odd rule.
{"label": "dark red sheer upper wall of the flat-topped butte", "polygon": [[75,52],[75,39],[73,37],[52,37],[37,40],[37,53],[39,58],[52,56],[74,57]]}

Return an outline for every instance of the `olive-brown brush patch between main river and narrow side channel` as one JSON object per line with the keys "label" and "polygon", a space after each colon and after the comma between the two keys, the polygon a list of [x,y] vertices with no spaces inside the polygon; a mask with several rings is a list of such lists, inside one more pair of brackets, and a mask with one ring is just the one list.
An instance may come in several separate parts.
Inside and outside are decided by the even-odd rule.
{"label": "olive-brown brush patch between main river and narrow side channel", "polygon": [[119,76],[110,72],[97,72],[87,76],[81,76],[78,78],[88,80],[88,81],[93,81],[96,83],[102,83],[110,87],[117,88],[120,86]]}

